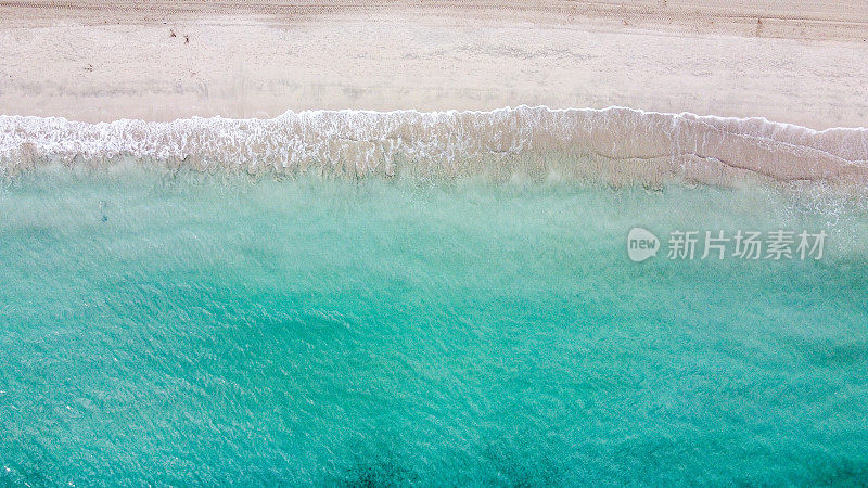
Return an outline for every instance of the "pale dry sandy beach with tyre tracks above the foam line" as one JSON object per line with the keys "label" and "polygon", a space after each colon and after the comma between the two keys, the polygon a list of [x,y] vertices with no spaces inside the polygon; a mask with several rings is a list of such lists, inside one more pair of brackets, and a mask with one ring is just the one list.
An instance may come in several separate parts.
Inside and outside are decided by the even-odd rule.
{"label": "pale dry sandy beach with tyre tracks above the foam line", "polygon": [[0,113],[616,105],[863,127],[866,3],[2,2]]}

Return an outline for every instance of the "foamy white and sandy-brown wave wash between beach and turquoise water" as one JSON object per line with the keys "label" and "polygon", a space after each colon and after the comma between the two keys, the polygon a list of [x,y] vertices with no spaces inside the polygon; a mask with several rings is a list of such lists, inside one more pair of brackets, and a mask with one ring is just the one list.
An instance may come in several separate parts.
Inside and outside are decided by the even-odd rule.
{"label": "foamy white and sandy-brown wave wash between beach and turquoise water", "polygon": [[738,178],[868,183],[868,129],[822,131],[766,120],[519,106],[490,112],[286,112],[271,119],[88,124],[0,116],[0,168],[110,166],[124,157],[170,167],[352,177],[559,172],[615,182]]}

